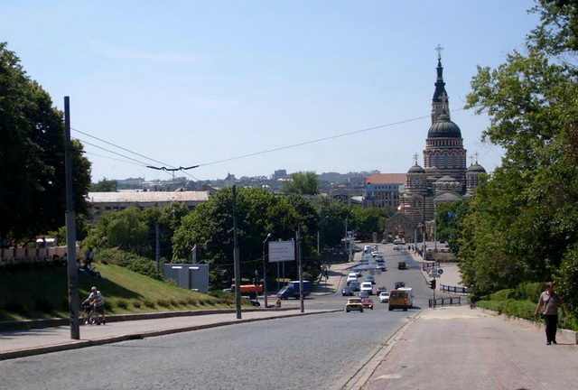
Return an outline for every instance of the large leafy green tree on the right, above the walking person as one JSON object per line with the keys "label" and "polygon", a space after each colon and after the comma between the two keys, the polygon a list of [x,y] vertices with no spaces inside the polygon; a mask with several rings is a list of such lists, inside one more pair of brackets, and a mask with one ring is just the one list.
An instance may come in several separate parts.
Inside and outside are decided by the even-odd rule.
{"label": "large leafy green tree on the right, above the walking person", "polygon": [[471,200],[459,256],[479,294],[556,277],[567,299],[578,243],[578,5],[542,0],[535,11],[541,23],[527,52],[479,68],[471,82],[467,107],[489,115],[483,138],[505,157]]}

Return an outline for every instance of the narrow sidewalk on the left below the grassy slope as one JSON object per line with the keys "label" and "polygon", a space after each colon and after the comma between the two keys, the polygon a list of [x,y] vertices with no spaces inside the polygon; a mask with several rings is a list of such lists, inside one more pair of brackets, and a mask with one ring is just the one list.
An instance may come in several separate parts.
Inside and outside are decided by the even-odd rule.
{"label": "narrow sidewalk on the left below the grassy slope", "polygon": [[127,339],[143,339],[183,331],[201,330],[256,320],[272,320],[299,315],[321,314],[331,310],[310,310],[301,313],[291,311],[248,311],[242,312],[242,320],[236,313],[207,314],[193,317],[172,317],[154,320],[128,320],[107,323],[101,326],[83,325],[80,339],[70,339],[70,327],[60,326],[35,330],[0,332],[0,360],[14,357],[39,355],[58,350],[84,348],[109,344]]}

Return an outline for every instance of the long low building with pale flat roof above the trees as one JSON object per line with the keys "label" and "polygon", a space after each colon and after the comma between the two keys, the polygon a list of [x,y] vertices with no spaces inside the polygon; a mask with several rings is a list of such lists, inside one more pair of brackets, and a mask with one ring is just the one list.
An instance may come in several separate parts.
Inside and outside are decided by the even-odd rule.
{"label": "long low building with pale flat roof above the trees", "polygon": [[189,209],[209,200],[209,191],[122,191],[89,192],[87,200],[92,205],[93,219],[106,211],[120,211],[130,207],[164,207],[172,202],[182,202]]}

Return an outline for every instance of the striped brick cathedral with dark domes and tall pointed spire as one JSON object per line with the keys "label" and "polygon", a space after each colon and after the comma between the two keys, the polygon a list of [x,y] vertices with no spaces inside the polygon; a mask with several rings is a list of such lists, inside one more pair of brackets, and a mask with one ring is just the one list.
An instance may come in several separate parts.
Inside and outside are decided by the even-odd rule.
{"label": "striped brick cathedral with dark domes and tall pointed spire", "polygon": [[477,161],[470,166],[466,164],[461,130],[450,116],[440,55],[434,85],[432,125],[425,140],[424,166],[418,164],[415,154],[414,166],[406,174],[406,183],[399,188],[399,212],[387,223],[386,233],[395,236],[402,233],[400,229],[404,230],[403,236],[413,236],[417,225],[433,219],[438,204],[469,199],[480,175],[486,173]]}

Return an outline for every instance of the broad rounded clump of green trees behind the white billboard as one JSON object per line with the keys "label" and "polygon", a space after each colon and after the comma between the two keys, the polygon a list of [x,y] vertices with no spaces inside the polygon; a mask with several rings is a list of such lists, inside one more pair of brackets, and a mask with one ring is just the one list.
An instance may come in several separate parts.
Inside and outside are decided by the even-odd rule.
{"label": "broad rounded clump of green trees behind the white billboard", "polygon": [[[231,189],[219,190],[209,201],[199,205],[182,218],[172,239],[173,259],[190,258],[190,251],[197,245],[198,258],[207,259],[211,283],[227,285],[233,277],[233,197]],[[303,268],[309,274],[319,272],[319,257],[312,249],[317,229],[317,213],[309,201],[301,196],[275,197],[261,189],[239,189],[237,196],[238,245],[242,274],[253,277],[259,274],[263,240],[267,233],[271,239],[294,238],[297,224],[303,231]],[[295,275],[295,264],[287,272]]]}

